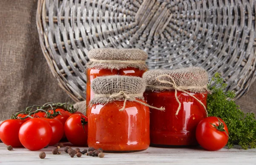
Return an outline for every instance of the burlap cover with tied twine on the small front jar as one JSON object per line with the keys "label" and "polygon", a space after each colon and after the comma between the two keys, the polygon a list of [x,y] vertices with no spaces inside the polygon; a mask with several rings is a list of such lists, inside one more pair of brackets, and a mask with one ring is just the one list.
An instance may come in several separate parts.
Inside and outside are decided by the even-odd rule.
{"label": "burlap cover with tied twine on the small front jar", "polygon": [[90,101],[93,104],[107,104],[116,100],[123,100],[124,104],[120,111],[125,109],[126,101],[135,101],[147,107],[157,110],[164,110],[163,107],[157,108],[146,104],[143,101],[145,91],[145,81],[143,78],[134,76],[111,75],[95,78],[91,84],[95,96]]}

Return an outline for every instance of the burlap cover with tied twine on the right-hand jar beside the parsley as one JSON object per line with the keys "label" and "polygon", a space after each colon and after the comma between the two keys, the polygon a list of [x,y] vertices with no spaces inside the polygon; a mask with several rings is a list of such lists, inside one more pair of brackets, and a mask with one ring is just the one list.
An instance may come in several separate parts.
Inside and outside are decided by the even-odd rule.
{"label": "burlap cover with tied twine on the right-hand jar beside the parsley", "polygon": [[197,100],[206,110],[204,104],[191,94],[208,92],[208,74],[207,71],[201,67],[189,67],[174,70],[150,70],[143,74],[143,79],[146,82],[146,90],[175,90],[176,101],[179,103],[176,115],[179,113],[181,106],[177,97],[177,91],[182,91],[195,98],[195,100]]}

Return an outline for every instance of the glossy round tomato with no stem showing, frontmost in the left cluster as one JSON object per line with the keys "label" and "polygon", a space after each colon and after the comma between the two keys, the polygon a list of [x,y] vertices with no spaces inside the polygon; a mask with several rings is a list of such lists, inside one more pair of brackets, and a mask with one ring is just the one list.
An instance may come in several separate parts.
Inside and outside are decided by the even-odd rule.
{"label": "glossy round tomato with no stem showing, frontmost in the left cluster", "polygon": [[52,127],[44,119],[30,119],[21,125],[19,139],[25,148],[32,151],[40,150],[51,141]]}

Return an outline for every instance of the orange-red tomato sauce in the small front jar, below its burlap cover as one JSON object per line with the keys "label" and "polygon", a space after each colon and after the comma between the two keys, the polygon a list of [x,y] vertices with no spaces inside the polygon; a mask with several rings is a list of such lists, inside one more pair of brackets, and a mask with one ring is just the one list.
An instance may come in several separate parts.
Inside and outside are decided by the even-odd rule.
{"label": "orange-red tomato sauce in the small front jar, below its burlap cover", "polygon": [[[142,100],[140,100],[142,101]],[[94,104],[88,107],[88,146],[104,152],[132,152],[148,148],[149,108],[127,101]]]}

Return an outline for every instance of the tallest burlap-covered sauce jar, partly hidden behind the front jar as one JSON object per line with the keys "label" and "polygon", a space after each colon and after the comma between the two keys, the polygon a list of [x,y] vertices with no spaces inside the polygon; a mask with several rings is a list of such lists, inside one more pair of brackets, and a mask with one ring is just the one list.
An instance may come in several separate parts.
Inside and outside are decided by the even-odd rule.
{"label": "tallest burlap-covered sauce jar, partly hidden behind the front jar", "polygon": [[92,49],[88,52],[86,103],[89,105],[94,94],[91,81],[98,76],[131,75],[142,77],[147,70],[146,52],[140,49]]}

